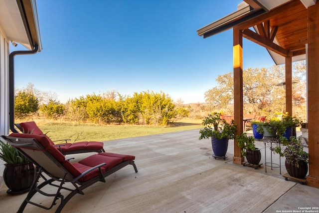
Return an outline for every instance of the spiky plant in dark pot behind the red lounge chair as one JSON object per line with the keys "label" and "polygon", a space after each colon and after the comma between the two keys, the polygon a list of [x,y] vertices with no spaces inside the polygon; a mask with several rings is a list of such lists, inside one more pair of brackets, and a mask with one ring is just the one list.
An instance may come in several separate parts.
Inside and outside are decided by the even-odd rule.
{"label": "spiky plant in dark pot behind the red lounge chair", "polygon": [[8,187],[8,194],[28,192],[35,176],[35,169],[23,154],[14,147],[0,141],[0,159],[5,164],[3,180]]}

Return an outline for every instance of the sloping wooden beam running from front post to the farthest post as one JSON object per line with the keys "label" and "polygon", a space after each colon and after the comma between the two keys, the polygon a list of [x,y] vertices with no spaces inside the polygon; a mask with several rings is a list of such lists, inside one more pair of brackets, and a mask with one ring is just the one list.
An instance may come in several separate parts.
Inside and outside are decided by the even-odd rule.
{"label": "sloping wooden beam running from front post to the farthest post", "polygon": [[269,39],[267,39],[266,37],[263,37],[259,34],[257,34],[256,32],[250,30],[250,29],[245,29],[243,30],[243,37],[269,49],[272,50],[284,57],[287,56],[292,56],[292,53],[290,53],[287,49],[284,49],[283,47],[273,43],[272,41],[270,41]]}

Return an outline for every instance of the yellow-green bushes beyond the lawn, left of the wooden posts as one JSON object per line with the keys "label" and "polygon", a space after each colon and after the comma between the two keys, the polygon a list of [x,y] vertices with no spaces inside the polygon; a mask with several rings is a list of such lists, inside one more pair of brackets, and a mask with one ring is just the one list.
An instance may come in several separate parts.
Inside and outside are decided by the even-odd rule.
{"label": "yellow-green bushes beyond the lawn, left of the wooden posts", "polygon": [[15,116],[21,118],[36,113],[44,118],[63,117],[72,122],[166,126],[178,116],[189,115],[187,109],[176,107],[172,99],[163,92],[144,91],[136,92],[132,97],[123,97],[116,91],[110,91],[81,96],[65,104],[51,98],[46,103],[40,103],[39,99],[43,100],[43,94],[40,94],[32,84],[26,89],[18,90],[15,94]]}

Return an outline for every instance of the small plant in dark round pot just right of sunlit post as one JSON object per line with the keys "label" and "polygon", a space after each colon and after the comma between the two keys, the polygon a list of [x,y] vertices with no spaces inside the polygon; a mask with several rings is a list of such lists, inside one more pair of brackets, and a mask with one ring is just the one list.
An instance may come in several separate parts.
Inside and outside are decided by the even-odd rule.
{"label": "small plant in dark round pot just right of sunlit post", "polygon": [[261,160],[261,152],[255,147],[254,136],[247,136],[246,133],[236,136],[237,144],[241,150],[241,154],[246,156],[247,162],[253,165],[258,165]]}

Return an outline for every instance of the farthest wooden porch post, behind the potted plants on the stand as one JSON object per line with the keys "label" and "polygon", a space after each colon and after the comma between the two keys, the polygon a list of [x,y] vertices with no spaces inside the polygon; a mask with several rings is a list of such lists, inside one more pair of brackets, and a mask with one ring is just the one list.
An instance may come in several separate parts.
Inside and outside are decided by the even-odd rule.
{"label": "farthest wooden porch post, behind the potted plants on the stand", "polygon": [[286,63],[286,112],[293,115],[292,57],[285,58]]}

